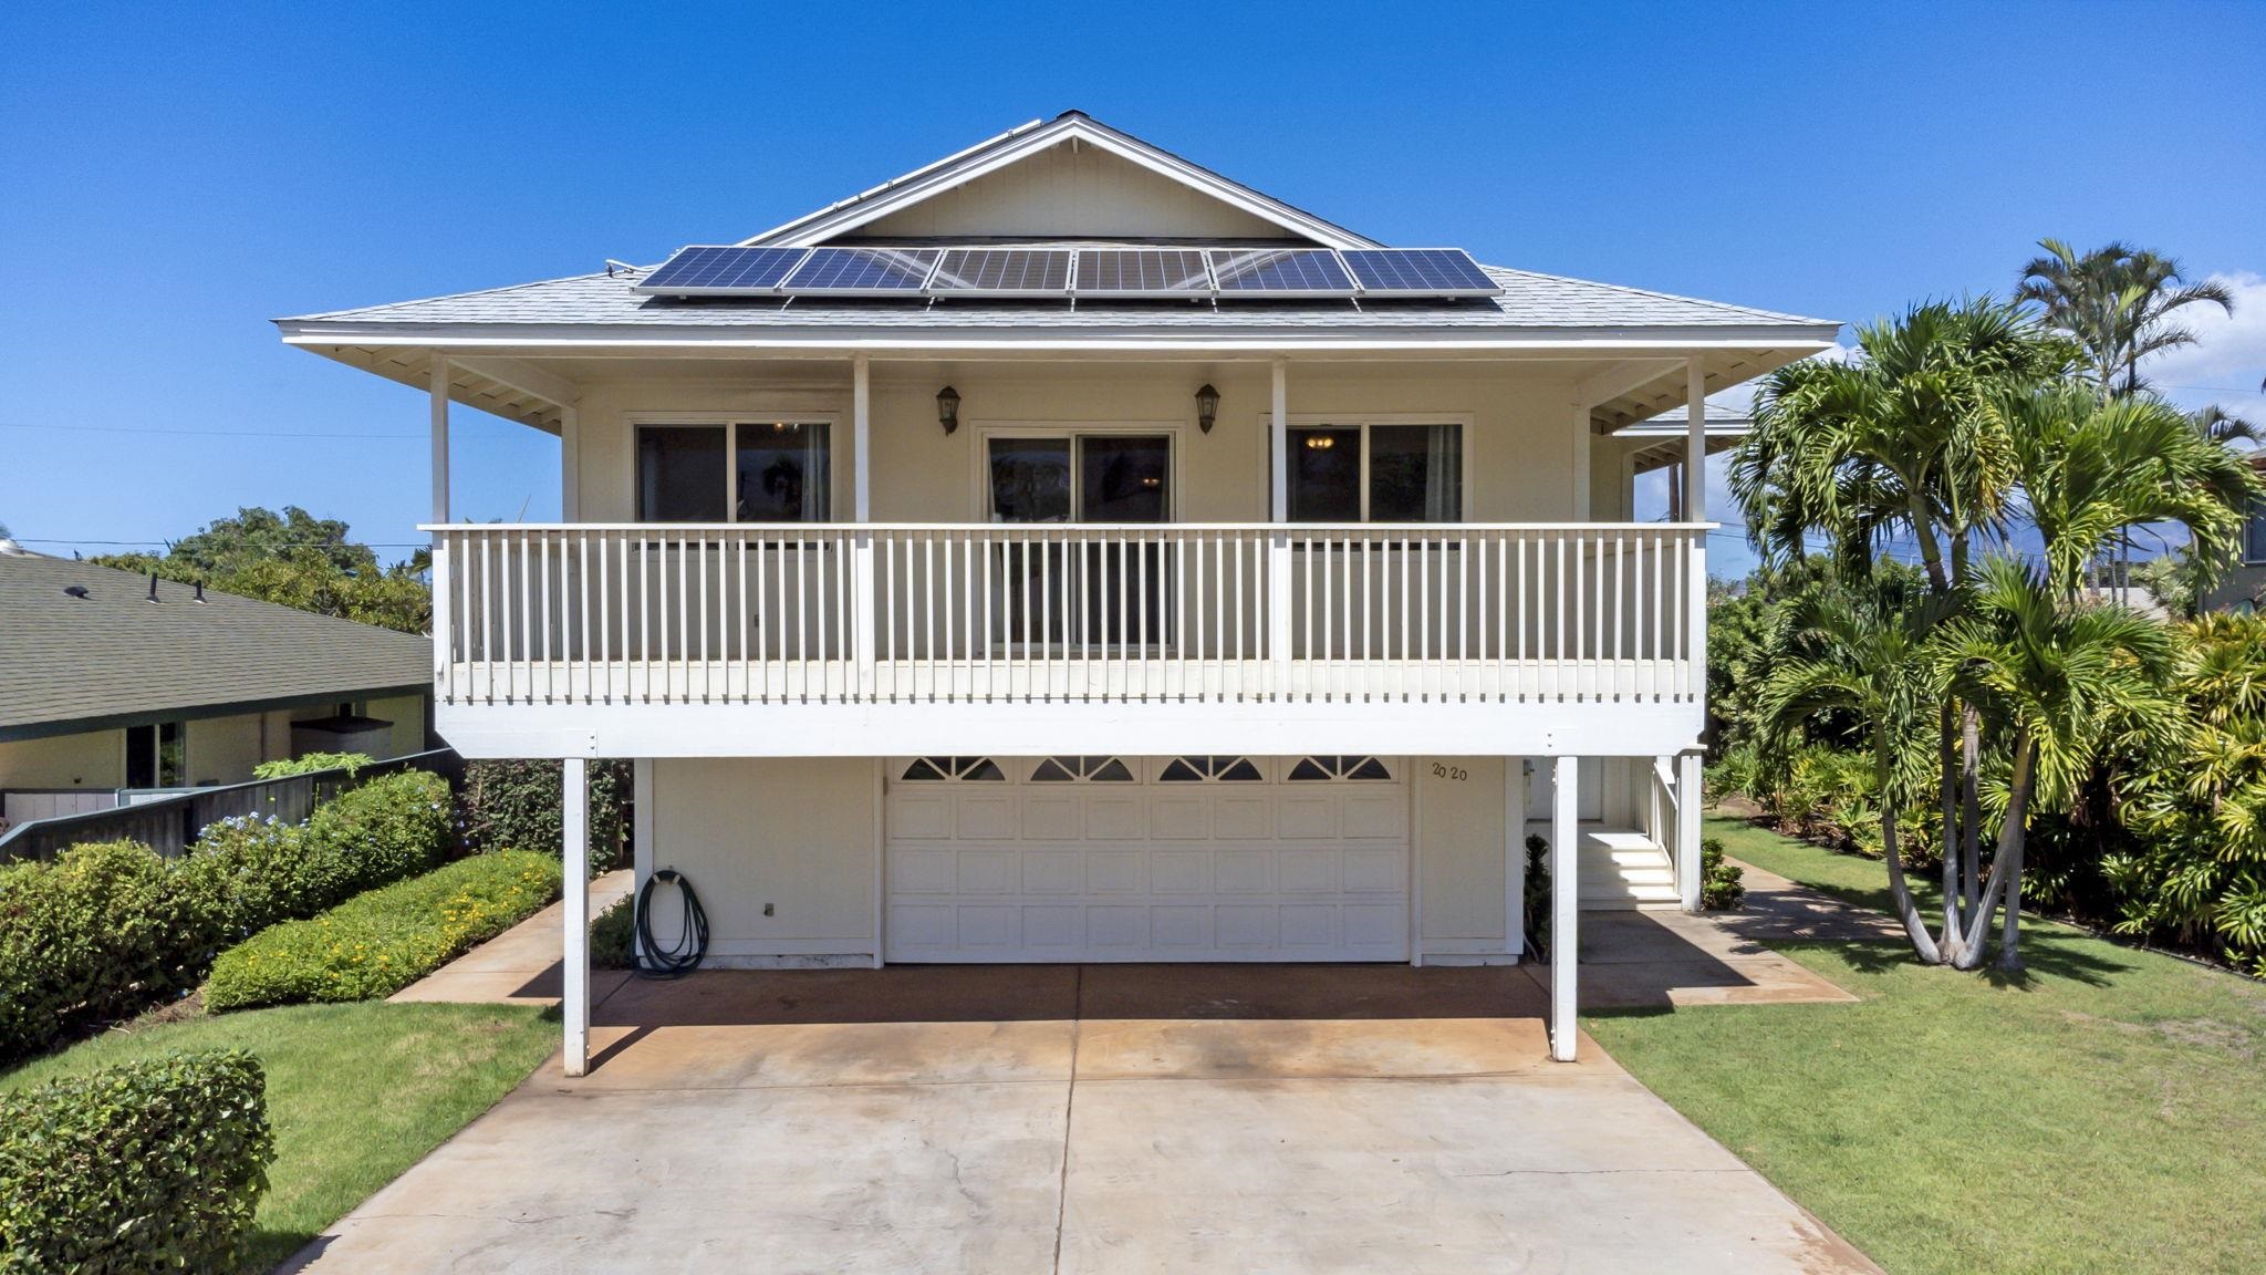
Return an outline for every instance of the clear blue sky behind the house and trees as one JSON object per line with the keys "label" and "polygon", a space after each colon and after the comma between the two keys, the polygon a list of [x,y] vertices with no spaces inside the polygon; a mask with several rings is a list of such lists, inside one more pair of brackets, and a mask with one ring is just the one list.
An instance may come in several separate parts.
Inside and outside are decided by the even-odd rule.
{"label": "clear blue sky behind the house and trees", "polygon": [[[1840,320],[2039,236],[2266,275],[2266,5],[653,9],[5,7],[0,524],[406,544],[421,395],[270,318],[657,261],[1070,107],[1387,243]],[[2182,383],[2255,388],[2259,331]],[[460,417],[458,510],[555,517],[557,445]]]}

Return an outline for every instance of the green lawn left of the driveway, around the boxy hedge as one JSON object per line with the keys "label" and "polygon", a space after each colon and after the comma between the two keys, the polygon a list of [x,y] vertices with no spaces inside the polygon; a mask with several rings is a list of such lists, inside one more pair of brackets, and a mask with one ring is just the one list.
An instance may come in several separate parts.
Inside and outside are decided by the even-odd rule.
{"label": "green lawn left of the driveway, around the boxy hedge", "polygon": [[165,1050],[247,1048],[267,1069],[276,1162],[245,1270],[267,1270],[471,1123],[557,1048],[514,1005],[292,1005],[156,1023],[0,1075],[0,1089]]}

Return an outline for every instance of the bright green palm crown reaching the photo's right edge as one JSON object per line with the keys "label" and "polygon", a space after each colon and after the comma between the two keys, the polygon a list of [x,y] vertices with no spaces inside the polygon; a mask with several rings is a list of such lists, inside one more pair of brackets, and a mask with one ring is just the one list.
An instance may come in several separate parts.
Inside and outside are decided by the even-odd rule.
{"label": "bright green palm crown reaching the photo's right edge", "polygon": [[2085,565],[2132,529],[2178,522],[2203,567],[2241,549],[2255,467],[2155,395],[2101,399],[2055,383],[1994,404],[2021,474],[2021,513],[2046,542],[2046,585],[2073,599]]}

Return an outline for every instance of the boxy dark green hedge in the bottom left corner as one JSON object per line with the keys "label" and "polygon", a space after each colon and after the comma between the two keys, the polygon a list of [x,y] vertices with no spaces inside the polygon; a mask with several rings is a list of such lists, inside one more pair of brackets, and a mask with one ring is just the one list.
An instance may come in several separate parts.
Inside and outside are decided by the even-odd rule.
{"label": "boxy dark green hedge in the bottom left corner", "polygon": [[245,1050],[0,1094],[0,1268],[229,1270],[270,1162],[265,1075]]}

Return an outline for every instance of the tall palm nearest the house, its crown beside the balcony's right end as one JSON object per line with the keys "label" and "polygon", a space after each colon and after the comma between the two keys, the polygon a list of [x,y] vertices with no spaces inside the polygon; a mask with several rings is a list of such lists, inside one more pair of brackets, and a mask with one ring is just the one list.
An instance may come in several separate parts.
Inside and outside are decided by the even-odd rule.
{"label": "tall palm nearest the house, its crown beside the balcony's right end", "polygon": [[[1731,492],[1765,560],[1833,544],[1842,576],[1863,581],[1894,540],[1919,547],[1944,606],[1962,590],[1976,540],[2003,531],[2019,456],[1999,404],[2069,372],[2078,352],[2019,309],[1969,299],[1913,306],[1858,329],[1851,363],[1792,363],[1756,397],[1754,431],[1731,458]],[[1937,706],[1946,960],[1983,905],[1980,724],[1951,696]],[[1917,944],[1915,944],[1917,946]],[[1928,953],[1922,951],[1926,957]],[[1931,957],[1933,960],[1933,957]]]}

